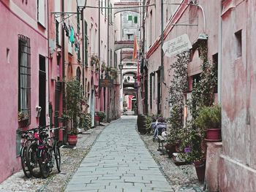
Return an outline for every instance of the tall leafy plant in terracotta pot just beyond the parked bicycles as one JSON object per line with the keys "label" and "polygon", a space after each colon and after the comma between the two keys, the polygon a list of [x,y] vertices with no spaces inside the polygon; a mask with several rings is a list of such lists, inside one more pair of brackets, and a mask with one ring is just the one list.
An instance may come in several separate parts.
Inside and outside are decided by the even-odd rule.
{"label": "tall leafy plant in terracotta pot just beyond the parked bicycles", "polygon": [[83,90],[78,80],[73,79],[66,82],[64,116],[67,118],[69,145],[76,145],[78,142],[78,118],[82,112],[84,101],[82,93]]}

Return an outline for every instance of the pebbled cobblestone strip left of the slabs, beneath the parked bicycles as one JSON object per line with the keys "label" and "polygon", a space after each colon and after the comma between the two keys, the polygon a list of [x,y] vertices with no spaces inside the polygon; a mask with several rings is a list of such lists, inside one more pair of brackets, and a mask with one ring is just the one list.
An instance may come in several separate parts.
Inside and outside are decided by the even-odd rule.
{"label": "pebbled cobblestone strip left of the slabs, beneath the parked bicycles", "polygon": [[[108,125],[108,124],[106,124]],[[74,148],[61,148],[61,173],[53,169],[48,179],[27,179],[23,171],[17,172],[0,183],[0,191],[64,191],[72,174],[80,165],[83,157],[89,152],[91,145],[105,126],[97,126],[84,134],[78,134],[78,143]]]}

